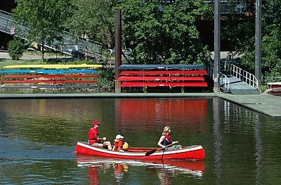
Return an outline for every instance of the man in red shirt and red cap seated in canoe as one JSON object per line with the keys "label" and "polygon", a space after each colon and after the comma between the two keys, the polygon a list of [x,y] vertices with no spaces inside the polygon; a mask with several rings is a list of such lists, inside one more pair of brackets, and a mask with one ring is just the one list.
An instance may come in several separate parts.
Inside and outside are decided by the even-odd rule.
{"label": "man in red shirt and red cap seated in canoe", "polygon": [[107,148],[108,150],[112,150],[112,146],[110,141],[106,141],[106,137],[100,138],[98,136],[98,127],[100,127],[100,122],[93,121],[93,127],[89,129],[89,144],[92,146],[98,146],[100,148]]}

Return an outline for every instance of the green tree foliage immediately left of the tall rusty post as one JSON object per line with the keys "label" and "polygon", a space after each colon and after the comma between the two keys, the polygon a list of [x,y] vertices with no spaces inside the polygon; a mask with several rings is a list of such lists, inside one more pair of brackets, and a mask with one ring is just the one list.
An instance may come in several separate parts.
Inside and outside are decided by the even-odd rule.
{"label": "green tree foliage immediately left of the tall rusty post", "polygon": [[102,42],[107,48],[114,46],[115,0],[74,0],[73,16],[67,21],[71,32]]}

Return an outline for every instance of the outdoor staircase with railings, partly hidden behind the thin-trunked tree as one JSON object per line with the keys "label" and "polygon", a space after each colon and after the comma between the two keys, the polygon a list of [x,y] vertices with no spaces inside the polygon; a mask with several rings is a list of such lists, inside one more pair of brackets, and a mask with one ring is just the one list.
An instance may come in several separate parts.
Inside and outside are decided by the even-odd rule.
{"label": "outdoor staircase with railings, partly hidden behind the thin-trunked tree", "polygon": [[[13,20],[11,19],[11,13],[0,10],[0,32],[14,35],[22,39],[27,39],[23,34],[17,34],[14,27],[11,26]],[[54,40],[53,44],[45,44],[46,48],[54,49],[62,53],[72,55],[74,53],[83,54],[91,57],[99,57],[101,53],[102,44],[93,42],[91,40],[84,40],[77,37],[70,32],[63,32],[60,34],[62,41]]]}

